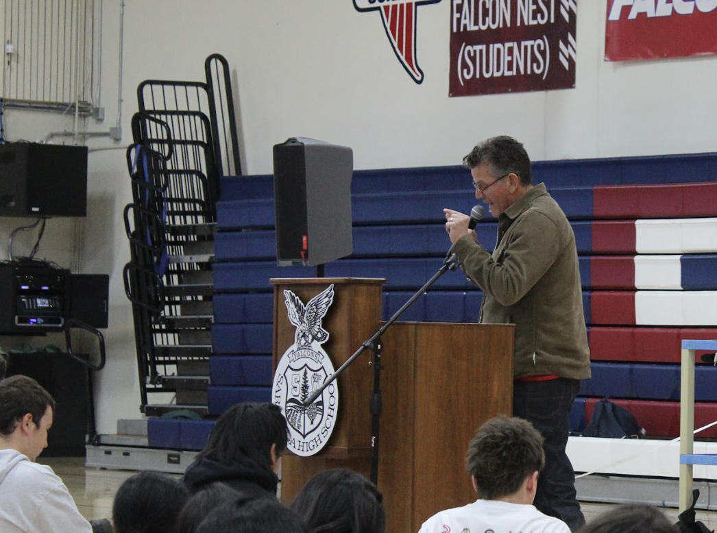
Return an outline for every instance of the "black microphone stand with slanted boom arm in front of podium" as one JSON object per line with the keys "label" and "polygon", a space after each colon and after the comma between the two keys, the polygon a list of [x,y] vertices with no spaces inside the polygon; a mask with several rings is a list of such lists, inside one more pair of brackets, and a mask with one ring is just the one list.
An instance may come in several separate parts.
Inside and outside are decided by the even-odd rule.
{"label": "black microphone stand with slanted boom arm in front of podium", "polygon": [[381,350],[383,350],[383,342],[381,342],[381,335],[384,334],[384,332],[388,329],[388,327],[396,322],[398,317],[400,317],[403,312],[408,309],[413,302],[415,302],[424,292],[426,292],[429,287],[431,287],[432,284],[436,282],[438,278],[440,278],[443,274],[445,274],[448,270],[454,271],[458,268],[458,258],[455,254],[451,254],[450,251],[448,252],[448,256],[446,257],[445,261],[443,261],[443,266],[433,274],[433,277],[429,279],[426,284],[424,284],[423,287],[421,287],[416,294],[414,294],[403,306],[401,309],[399,309],[397,312],[394,313],[394,316],[389,318],[389,320],[386,321],[384,325],[379,327],[379,330],[374,333],[374,335],[369,338],[369,340],[366,340],[360,347],[359,350],[356,350],[356,352],[351,355],[351,357],[348,357],[346,362],[341,365],[336,372],[334,372],[332,375],[330,375],[328,378],[326,378],[326,381],[323,382],[323,385],[321,385],[318,389],[316,389],[306,400],[304,401],[303,405],[305,407],[308,407],[312,403],[315,402],[316,398],[318,398],[321,393],[323,393],[323,390],[328,387],[336,378],[338,378],[338,375],[340,375],[346,368],[348,368],[351,363],[356,360],[356,357],[359,357],[361,353],[364,352],[367,348],[370,348],[374,352],[374,361],[369,362],[369,365],[374,365],[374,390],[373,393],[371,393],[371,401],[369,402],[369,409],[371,411],[371,481],[374,483],[374,485],[377,485],[379,483],[379,421],[381,418],[381,410],[383,409],[383,399],[381,398],[381,370],[383,370],[383,367],[381,366]]}

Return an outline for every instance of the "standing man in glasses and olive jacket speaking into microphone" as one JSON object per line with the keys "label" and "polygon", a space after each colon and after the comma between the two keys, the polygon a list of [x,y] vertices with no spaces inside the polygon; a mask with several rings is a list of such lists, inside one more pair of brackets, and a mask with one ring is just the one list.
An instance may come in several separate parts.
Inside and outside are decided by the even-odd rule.
{"label": "standing man in glasses and olive jacket speaking into microphone", "polygon": [[452,252],[483,289],[478,321],[516,325],[513,415],[545,439],[534,505],[575,531],[585,519],[565,446],[579,380],[590,377],[575,236],[545,185],[533,186],[530,158],[517,140],[485,140],[464,162],[475,197],[498,219],[498,241],[491,254],[469,229],[470,216],[444,209]]}

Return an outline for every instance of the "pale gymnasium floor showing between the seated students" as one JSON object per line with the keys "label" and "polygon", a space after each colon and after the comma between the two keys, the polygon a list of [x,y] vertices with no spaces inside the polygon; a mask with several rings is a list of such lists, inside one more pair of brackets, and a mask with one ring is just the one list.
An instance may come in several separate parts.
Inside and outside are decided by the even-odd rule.
{"label": "pale gymnasium floor showing between the seated students", "polygon": [[[136,474],[133,471],[114,471],[85,468],[83,457],[39,457],[39,463],[52,467],[55,473],[65,481],[77,508],[88,520],[109,518],[115,492],[122,482]],[[610,504],[583,503],[583,513],[588,522],[610,508]],[[677,509],[665,509],[671,521],[677,521]],[[717,512],[698,511],[697,519],[709,529],[717,529]]]}

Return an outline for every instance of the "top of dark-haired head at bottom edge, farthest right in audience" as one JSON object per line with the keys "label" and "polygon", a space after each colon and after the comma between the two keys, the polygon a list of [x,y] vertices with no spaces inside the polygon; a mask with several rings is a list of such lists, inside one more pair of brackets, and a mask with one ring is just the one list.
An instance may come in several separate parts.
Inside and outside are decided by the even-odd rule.
{"label": "top of dark-haired head at bottom edge, farthest right in audience", "polygon": [[678,533],[660,509],[650,505],[618,505],[601,514],[579,533]]}

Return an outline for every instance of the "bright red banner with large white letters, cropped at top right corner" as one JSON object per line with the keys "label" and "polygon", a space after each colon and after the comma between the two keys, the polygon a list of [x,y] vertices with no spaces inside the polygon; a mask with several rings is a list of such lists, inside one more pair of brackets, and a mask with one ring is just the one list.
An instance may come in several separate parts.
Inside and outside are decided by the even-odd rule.
{"label": "bright red banner with large white letters, cropped at top right corner", "polygon": [[605,60],[717,54],[717,0],[608,0]]}

